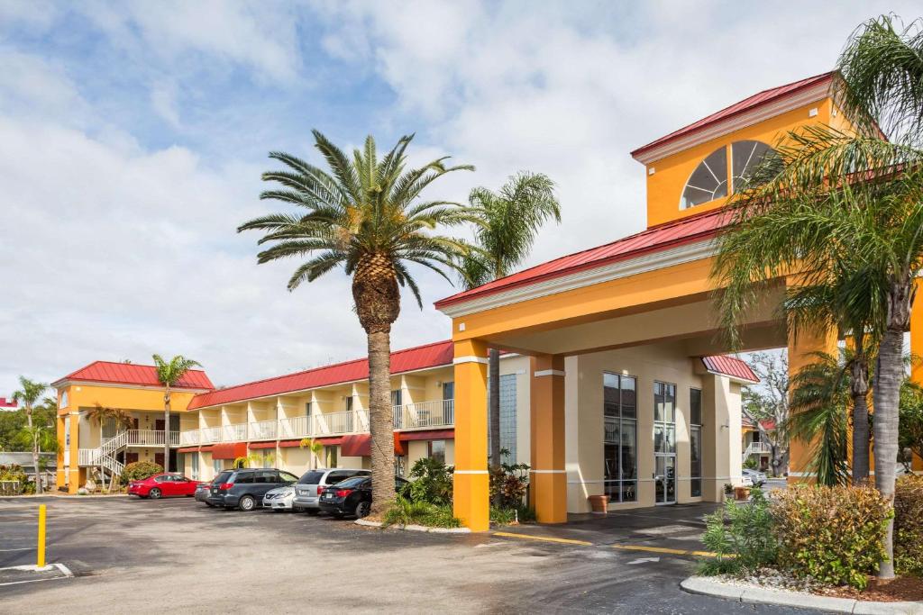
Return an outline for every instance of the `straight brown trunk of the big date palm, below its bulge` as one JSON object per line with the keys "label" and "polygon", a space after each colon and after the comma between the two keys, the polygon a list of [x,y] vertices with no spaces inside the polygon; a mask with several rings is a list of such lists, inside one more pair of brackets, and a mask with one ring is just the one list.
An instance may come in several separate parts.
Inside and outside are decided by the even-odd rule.
{"label": "straight brown trunk of the big date palm, below its bulge", "polygon": [[367,337],[369,431],[372,434],[371,514],[378,516],[394,500],[390,332],[373,331]]}

